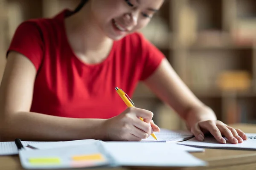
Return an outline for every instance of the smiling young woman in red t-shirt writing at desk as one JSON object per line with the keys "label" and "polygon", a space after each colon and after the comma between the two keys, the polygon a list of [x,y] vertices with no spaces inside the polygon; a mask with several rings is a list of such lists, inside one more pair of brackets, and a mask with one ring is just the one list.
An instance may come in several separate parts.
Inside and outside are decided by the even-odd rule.
{"label": "smiling young woman in red t-shirt writing at desk", "polygon": [[127,108],[115,91],[132,96],[139,81],[174,108],[199,141],[207,132],[221,143],[222,135],[234,144],[247,139],[216,120],[136,32],[163,1],[82,0],[75,12],[21,23],[0,86],[2,140],[145,139],[160,130],[153,113]]}

